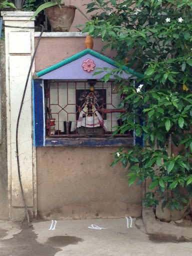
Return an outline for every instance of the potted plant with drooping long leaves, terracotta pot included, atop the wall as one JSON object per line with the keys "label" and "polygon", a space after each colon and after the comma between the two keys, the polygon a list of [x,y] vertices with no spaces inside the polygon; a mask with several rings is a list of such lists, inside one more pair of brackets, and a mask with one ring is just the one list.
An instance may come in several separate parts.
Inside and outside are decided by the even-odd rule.
{"label": "potted plant with drooping long leaves, terracotta pot included, atop the wall", "polygon": [[30,19],[35,17],[44,9],[54,32],[67,32],[70,29],[74,20],[75,9],[78,9],[80,13],[86,17],[86,15],[77,6],[65,5],[63,0],[44,0],[44,3],[36,9]]}

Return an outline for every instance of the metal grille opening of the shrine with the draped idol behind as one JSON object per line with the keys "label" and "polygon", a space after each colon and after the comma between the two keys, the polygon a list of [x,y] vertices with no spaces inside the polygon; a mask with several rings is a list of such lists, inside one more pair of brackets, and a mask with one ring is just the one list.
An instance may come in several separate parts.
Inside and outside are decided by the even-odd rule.
{"label": "metal grille opening of the shrine with the draped idol behind", "polygon": [[[45,86],[47,136],[111,136],[122,109],[113,81],[49,80]],[[116,136],[131,136],[116,134]]]}

